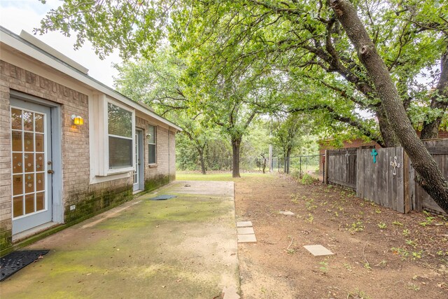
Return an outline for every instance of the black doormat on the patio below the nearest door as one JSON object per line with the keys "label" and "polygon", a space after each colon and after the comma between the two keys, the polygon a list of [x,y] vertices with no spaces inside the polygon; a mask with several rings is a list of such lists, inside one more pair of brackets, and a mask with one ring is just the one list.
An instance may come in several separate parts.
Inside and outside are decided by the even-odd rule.
{"label": "black doormat on the patio below the nearest door", "polygon": [[38,258],[42,258],[44,254],[47,254],[49,250],[23,250],[14,251],[6,256],[3,256],[0,260],[0,281],[3,281],[10,277],[18,270],[22,269]]}

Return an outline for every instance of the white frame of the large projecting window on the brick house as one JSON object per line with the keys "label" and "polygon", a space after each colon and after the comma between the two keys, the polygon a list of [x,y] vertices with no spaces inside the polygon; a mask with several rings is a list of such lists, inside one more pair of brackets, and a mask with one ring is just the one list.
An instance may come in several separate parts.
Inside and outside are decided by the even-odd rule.
{"label": "white frame of the large projecting window on the brick house", "polygon": [[[93,119],[94,123],[94,134],[90,136],[93,137],[94,140],[91,141],[94,144],[94,148],[96,148],[95,156],[97,157],[96,161],[93,160],[92,166],[96,169],[95,176],[109,176],[113,174],[126,174],[134,171],[134,156],[135,156],[135,110],[125,106],[124,104],[113,100],[109,97],[106,97],[104,94],[94,95],[94,103],[92,118],[98,117],[99,119]],[[132,113],[132,161],[129,167],[120,167],[120,168],[109,168],[109,109],[108,105],[113,104],[121,109],[125,109]],[[114,136],[114,135],[110,135]],[[120,136],[121,137],[121,136]],[[118,179],[118,178],[117,178]],[[92,181],[92,179],[91,179]],[[96,181],[96,180],[94,180]],[[92,183],[94,182],[92,181]]]}

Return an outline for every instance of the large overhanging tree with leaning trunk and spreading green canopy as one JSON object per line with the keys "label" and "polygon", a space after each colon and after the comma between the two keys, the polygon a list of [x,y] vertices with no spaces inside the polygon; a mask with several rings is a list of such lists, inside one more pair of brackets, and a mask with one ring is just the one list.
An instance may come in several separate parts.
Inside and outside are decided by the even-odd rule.
{"label": "large overhanging tree with leaning trunk and spreading green canopy", "polygon": [[260,111],[319,113],[401,144],[416,181],[448,211],[447,180],[415,132],[434,137],[447,119],[447,20],[437,0],[65,0],[36,31],[76,32],[75,46],[88,39],[100,57],[118,48],[152,59],[169,42],[186,89],[167,98],[203,106],[232,142]]}

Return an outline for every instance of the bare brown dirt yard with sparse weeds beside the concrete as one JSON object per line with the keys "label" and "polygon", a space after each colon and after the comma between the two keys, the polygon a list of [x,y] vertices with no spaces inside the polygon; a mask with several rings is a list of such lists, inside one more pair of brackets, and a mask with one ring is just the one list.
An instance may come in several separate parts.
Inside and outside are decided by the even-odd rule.
{"label": "bare brown dirt yard with sparse weeds beside the concrete", "polygon": [[[237,220],[252,221],[258,239],[239,244],[244,299],[448,298],[446,218],[289,176],[236,179],[235,191]],[[335,255],[314,257],[310,244]]]}

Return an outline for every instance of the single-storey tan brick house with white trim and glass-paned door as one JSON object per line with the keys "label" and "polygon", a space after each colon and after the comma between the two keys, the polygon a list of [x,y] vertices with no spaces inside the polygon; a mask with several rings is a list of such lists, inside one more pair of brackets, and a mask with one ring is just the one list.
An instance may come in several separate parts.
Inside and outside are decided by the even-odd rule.
{"label": "single-storey tan brick house with white trim and glass-paned door", "polygon": [[181,127],[34,36],[0,34],[2,253],[175,179]]}

